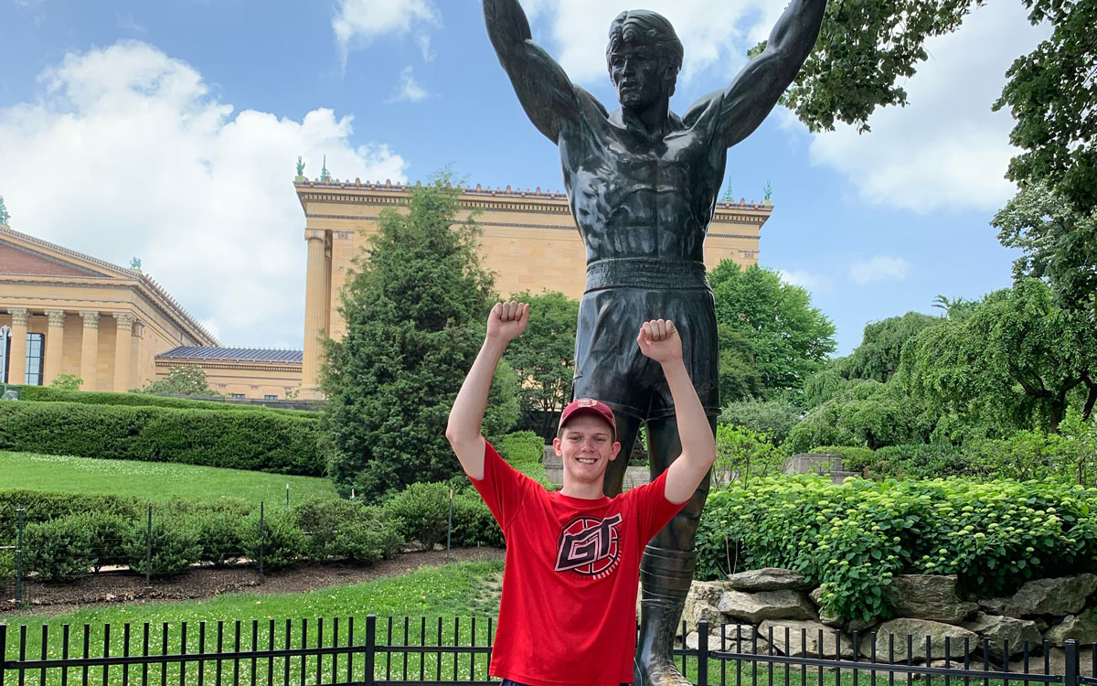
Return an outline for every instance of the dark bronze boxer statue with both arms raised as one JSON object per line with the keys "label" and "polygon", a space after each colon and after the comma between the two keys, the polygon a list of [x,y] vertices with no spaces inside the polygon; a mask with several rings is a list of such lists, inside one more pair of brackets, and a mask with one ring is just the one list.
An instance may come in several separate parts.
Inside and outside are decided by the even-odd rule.
{"label": "dark bronze boxer statue with both arms raised", "polygon": [[[647,425],[653,477],[680,453],[666,380],[636,349],[638,322],[672,319],[686,363],[715,430],[720,414],[716,318],[703,241],[727,148],[761,124],[807,58],[826,0],[792,0],[765,52],[731,86],[670,111],[682,45],[661,15],[622,12],[606,55],[621,109],[610,113],[572,83],[533,43],[518,0],[484,0],[491,45],[538,130],[559,147],[572,214],[587,249],[579,305],[574,397],[613,408],[622,453]],[[611,463],[606,493],[620,493],[626,460]],[[671,660],[675,629],[693,578],[693,538],[706,477],[644,553],[637,684],[687,684]]]}

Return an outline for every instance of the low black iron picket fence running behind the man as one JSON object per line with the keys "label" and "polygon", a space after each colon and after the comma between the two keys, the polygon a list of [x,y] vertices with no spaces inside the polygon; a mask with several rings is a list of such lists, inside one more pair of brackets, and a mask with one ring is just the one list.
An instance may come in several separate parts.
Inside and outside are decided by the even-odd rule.
{"label": "low black iron picket fence running behind the man", "polygon": [[[487,685],[496,683],[488,676],[493,631],[490,619],[378,621],[374,615],[357,627],[353,617],[121,627],[0,623],[0,686]],[[689,648],[693,638],[697,646]],[[705,686],[1097,685],[1097,644],[1074,640],[1063,648],[1025,643],[1010,660],[1005,641],[973,644],[788,628],[759,637],[745,625],[723,625],[710,636],[702,621],[697,633],[687,636],[683,627],[681,643],[675,651],[680,670]]]}

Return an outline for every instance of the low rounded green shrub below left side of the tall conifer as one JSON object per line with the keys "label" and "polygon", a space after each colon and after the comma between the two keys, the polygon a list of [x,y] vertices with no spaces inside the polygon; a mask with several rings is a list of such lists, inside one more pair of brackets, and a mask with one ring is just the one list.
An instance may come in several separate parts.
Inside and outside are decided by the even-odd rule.
{"label": "low rounded green shrub below left side of the tall conifer", "polygon": [[392,556],[404,542],[402,522],[359,501],[309,501],[293,514],[312,562],[342,558],[370,563]]}

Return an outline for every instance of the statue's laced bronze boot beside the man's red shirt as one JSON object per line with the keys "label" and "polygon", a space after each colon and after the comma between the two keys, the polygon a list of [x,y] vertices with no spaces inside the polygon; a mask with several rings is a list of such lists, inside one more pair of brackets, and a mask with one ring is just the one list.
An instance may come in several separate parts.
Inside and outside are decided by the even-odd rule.
{"label": "statue's laced bronze boot beside the man's red shirt", "polygon": [[675,633],[693,581],[697,551],[648,546],[640,563],[640,637],[635,686],[689,686],[674,662]]}

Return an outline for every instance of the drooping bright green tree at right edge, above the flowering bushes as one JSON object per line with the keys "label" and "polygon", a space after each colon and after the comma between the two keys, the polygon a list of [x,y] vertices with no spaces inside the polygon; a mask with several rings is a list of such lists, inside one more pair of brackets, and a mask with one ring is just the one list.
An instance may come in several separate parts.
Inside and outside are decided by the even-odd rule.
{"label": "drooping bright green tree at right edge, above the flowering bushes", "polygon": [[1038,279],[991,293],[965,319],[921,331],[902,364],[912,394],[1003,435],[1056,431],[1076,390],[1083,419],[1097,403],[1097,327],[1085,313],[1058,306]]}

